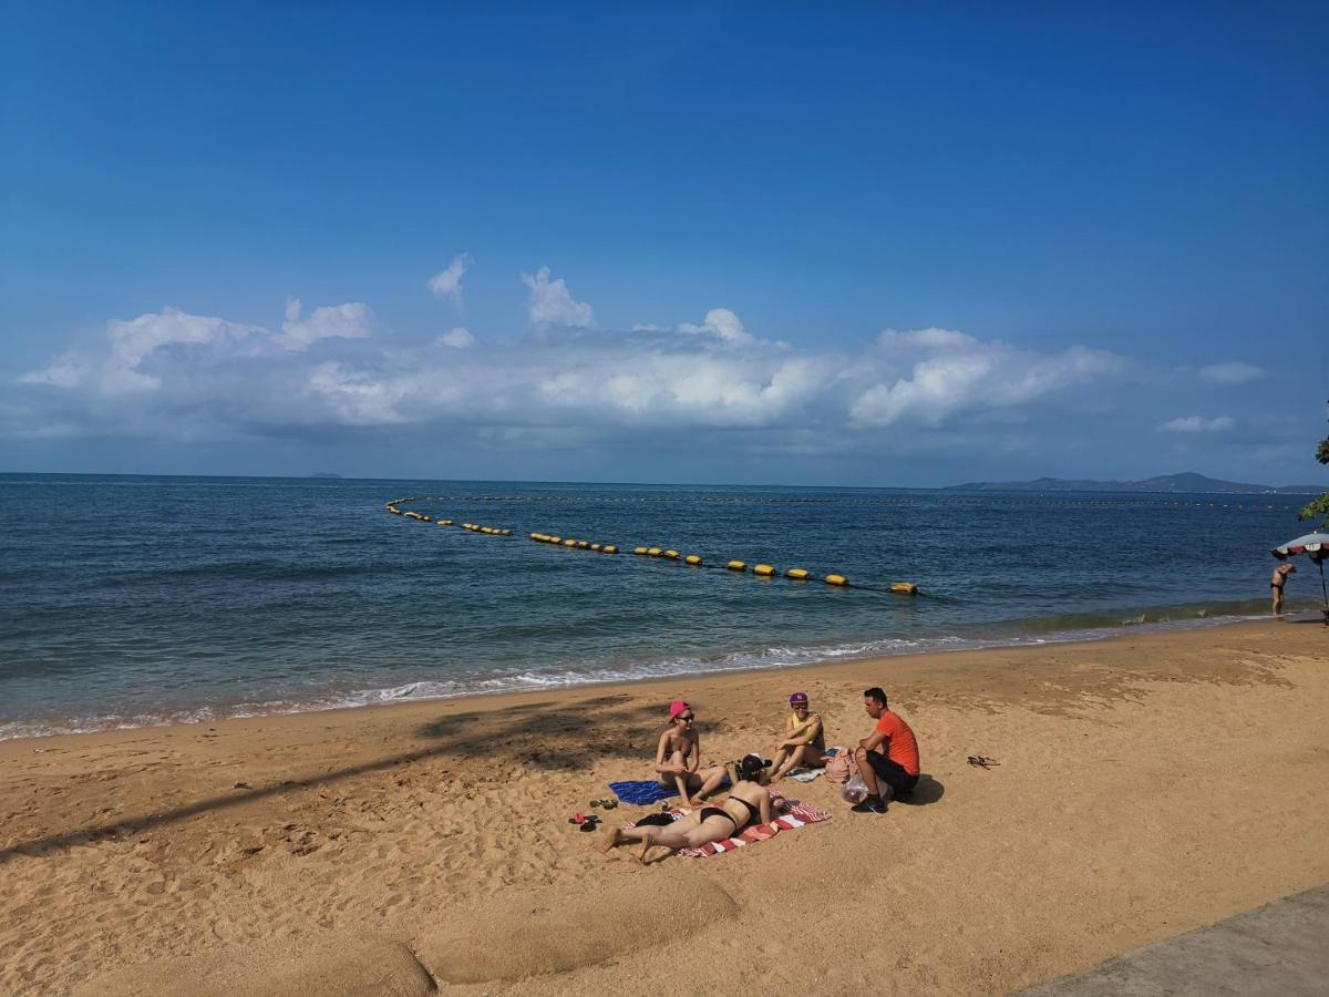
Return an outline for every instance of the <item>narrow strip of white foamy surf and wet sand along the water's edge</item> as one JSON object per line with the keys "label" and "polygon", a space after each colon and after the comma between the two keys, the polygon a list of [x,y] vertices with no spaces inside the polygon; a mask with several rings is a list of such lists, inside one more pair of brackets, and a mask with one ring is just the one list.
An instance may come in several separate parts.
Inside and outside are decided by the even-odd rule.
{"label": "narrow strip of white foamy surf and wet sand along the water's edge", "polygon": [[[1171,608],[1163,608],[1164,610]],[[1124,611],[1124,610],[1122,610]],[[1309,611],[1309,610],[1308,610]],[[1106,615],[1106,614],[1104,614]],[[1300,622],[1298,611],[1288,613],[1288,618],[1292,622]],[[1007,621],[1003,623],[995,623],[990,626],[1013,626],[1019,623],[1027,623],[1033,621],[1042,619],[1041,617],[1031,618],[1030,621]],[[387,686],[383,689],[360,689],[352,690],[344,694],[323,694],[312,697],[307,701],[283,701],[283,699],[270,699],[260,703],[242,703],[233,707],[222,707],[218,713],[214,713],[211,706],[194,706],[194,707],[181,707],[177,711],[165,714],[162,717],[154,715],[137,715],[132,720],[121,717],[113,717],[106,722],[92,722],[80,718],[72,718],[68,720],[69,726],[64,726],[57,722],[44,722],[44,720],[25,720],[13,719],[0,722],[0,744],[9,740],[28,740],[52,736],[70,736],[78,734],[96,734],[104,731],[114,730],[154,730],[162,727],[175,727],[175,726],[194,726],[198,723],[223,723],[238,719],[260,719],[271,717],[294,717],[302,714],[322,714],[338,710],[364,710],[375,709],[379,706],[396,706],[405,703],[437,703],[448,702],[453,699],[470,701],[485,697],[502,697],[514,694],[540,694],[545,691],[558,691],[558,690],[585,690],[585,689],[601,689],[613,687],[619,685],[635,685],[641,682],[653,682],[657,679],[668,681],[675,679],[679,682],[686,682],[692,678],[702,678],[706,675],[732,675],[743,673],[756,673],[756,671],[771,671],[771,673],[785,673],[793,669],[815,669],[825,665],[835,663],[848,663],[848,662],[873,662],[873,661],[896,661],[900,658],[912,658],[917,655],[926,654],[950,654],[961,651],[983,651],[983,650],[1015,650],[1021,647],[1041,647],[1051,645],[1067,645],[1067,643],[1092,643],[1099,641],[1112,641],[1118,638],[1128,638],[1134,635],[1147,635],[1159,633],[1176,633],[1187,630],[1200,630],[1211,627],[1225,627],[1225,626],[1241,626],[1252,622],[1261,622],[1268,619],[1267,614],[1244,614],[1244,615],[1196,615],[1193,618],[1168,618],[1158,621],[1146,622],[1122,622],[1118,625],[1107,625],[1100,627],[1080,627],[1070,630],[1049,630],[1038,634],[1013,634],[1013,635],[998,635],[991,634],[987,637],[961,637],[957,634],[948,634],[944,637],[922,637],[917,639],[905,638],[880,638],[877,641],[867,642],[870,645],[884,645],[889,642],[898,642],[901,647],[898,650],[882,650],[874,649],[869,653],[859,653],[856,650],[844,654],[836,653],[841,651],[837,647],[808,647],[805,653],[808,655],[823,655],[812,657],[809,661],[792,661],[792,662],[777,662],[769,665],[750,663],[747,659],[754,655],[747,653],[732,653],[718,659],[715,663],[720,663],[719,667],[710,667],[704,670],[688,670],[678,669],[676,671],[667,671],[659,675],[641,674],[641,675],[625,675],[622,671],[606,667],[603,671],[610,673],[605,678],[597,678],[595,671],[591,670],[586,673],[585,678],[575,678],[566,682],[549,682],[537,683],[534,681],[528,681],[522,685],[522,675],[513,677],[497,677],[493,679],[482,679],[480,682],[510,682],[512,685],[502,686],[498,689],[460,689],[449,690],[441,693],[425,693],[425,694],[403,694],[392,695],[403,689],[419,687],[419,686],[432,686],[432,685],[445,685],[447,679],[415,679],[405,682],[399,686]],[[908,645],[908,646],[906,646]],[[742,663],[732,666],[723,666],[722,662],[727,659],[739,659]],[[646,666],[639,666],[645,669]],[[270,709],[264,709],[270,707]],[[86,724],[86,726],[81,726]],[[5,728],[13,728],[19,732],[8,732]]]}

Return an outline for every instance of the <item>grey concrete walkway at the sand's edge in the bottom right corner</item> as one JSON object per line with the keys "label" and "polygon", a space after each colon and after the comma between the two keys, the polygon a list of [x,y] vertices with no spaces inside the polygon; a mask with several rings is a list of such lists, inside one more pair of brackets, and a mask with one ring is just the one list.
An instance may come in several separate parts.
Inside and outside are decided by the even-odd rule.
{"label": "grey concrete walkway at the sand's edge in the bottom right corner", "polygon": [[1329,887],[1146,945],[1026,997],[1329,994]]}

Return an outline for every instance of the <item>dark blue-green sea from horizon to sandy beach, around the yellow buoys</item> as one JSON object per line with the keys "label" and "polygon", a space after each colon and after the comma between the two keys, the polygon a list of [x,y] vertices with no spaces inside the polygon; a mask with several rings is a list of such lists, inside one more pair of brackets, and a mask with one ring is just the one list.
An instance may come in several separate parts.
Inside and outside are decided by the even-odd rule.
{"label": "dark blue-green sea from horizon to sandy beach, around the yellow buoys", "polygon": [[0,475],[0,738],[1204,625],[1267,611],[1301,501]]}

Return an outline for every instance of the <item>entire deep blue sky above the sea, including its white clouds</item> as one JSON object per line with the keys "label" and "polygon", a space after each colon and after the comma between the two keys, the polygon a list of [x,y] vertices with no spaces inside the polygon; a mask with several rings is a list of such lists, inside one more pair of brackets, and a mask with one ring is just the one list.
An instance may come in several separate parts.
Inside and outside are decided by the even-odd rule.
{"label": "entire deep blue sky above the sea, including its white clouds", "polygon": [[0,469],[1314,483],[1318,5],[12,7]]}

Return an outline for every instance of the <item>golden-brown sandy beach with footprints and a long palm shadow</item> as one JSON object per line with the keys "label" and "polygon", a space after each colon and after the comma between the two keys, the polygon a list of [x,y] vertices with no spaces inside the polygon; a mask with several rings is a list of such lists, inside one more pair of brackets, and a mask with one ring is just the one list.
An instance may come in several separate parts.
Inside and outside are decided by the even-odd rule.
{"label": "golden-brown sandy beach with footprints and a long palm shadow", "polygon": [[[785,783],[833,820],[646,868],[567,823],[675,695],[723,760],[869,685],[916,804]],[[1005,993],[1329,881],[1326,717],[1271,622],[4,742],[0,993]]]}

